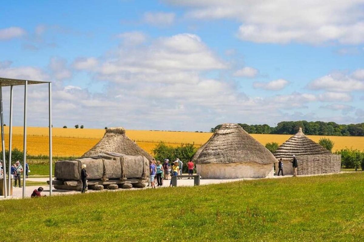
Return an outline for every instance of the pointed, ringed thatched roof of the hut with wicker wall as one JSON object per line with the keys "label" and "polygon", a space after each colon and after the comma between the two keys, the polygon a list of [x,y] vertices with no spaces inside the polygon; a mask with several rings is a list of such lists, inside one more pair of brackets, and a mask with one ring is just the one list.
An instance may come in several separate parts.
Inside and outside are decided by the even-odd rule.
{"label": "pointed, ringed thatched roof of the hut with wicker wall", "polygon": [[293,155],[327,154],[331,154],[331,152],[313,140],[307,138],[307,136],[302,132],[302,128],[300,128],[297,134],[289,138],[280,147],[278,147],[276,152],[274,152],[274,156],[276,156],[277,159],[292,159]]}

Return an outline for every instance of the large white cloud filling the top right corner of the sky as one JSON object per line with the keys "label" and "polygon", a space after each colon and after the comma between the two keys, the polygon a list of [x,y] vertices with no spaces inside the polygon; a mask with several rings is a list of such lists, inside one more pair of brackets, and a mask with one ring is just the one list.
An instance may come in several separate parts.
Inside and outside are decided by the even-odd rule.
{"label": "large white cloud filling the top right corner of the sky", "polygon": [[264,43],[320,44],[364,42],[363,1],[306,0],[167,0],[190,7],[194,19],[234,19],[241,22],[237,36]]}

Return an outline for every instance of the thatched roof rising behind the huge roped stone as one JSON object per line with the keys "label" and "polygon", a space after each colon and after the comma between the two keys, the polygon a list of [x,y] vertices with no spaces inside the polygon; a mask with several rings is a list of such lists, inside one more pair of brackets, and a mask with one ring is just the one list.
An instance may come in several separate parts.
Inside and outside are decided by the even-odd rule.
{"label": "thatched roof rising behind the huge roped stone", "polygon": [[148,160],[153,159],[149,153],[129,139],[125,134],[124,128],[121,127],[107,128],[104,137],[94,147],[84,153],[83,157],[106,152],[116,152],[124,155],[143,155]]}

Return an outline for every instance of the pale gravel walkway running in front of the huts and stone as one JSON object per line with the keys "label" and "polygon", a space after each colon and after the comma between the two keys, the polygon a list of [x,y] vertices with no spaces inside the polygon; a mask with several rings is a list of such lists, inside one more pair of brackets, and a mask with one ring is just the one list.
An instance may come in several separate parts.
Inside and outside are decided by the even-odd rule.
{"label": "pale gravel walkway running in front of the huts and stone", "polygon": [[[347,173],[347,172],[340,172],[340,173]],[[333,173],[330,174],[317,174],[317,175],[311,175],[311,176],[324,176],[324,175],[332,175]],[[336,173],[337,174],[337,173]],[[219,183],[226,183],[226,182],[233,182],[233,181],[242,181],[242,180],[257,180],[257,179],[280,179],[280,178],[284,178],[284,177],[292,177],[290,175],[287,176],[274,176],[274,177],[269,177],[269,178],[240,178],[240,179],[201,179],[200,180],[200,185],[208,185],[208,184],[219,184]],[[302,177],[306,177],[306,176],[302,176]],[[49,178],[46,177],[41,177],[41,178],[28,178],[27,181],[48,181]],[[163,186],[162,187],[168,187],[170,184],[170,180],[164,180],[163,182]],[[193,186],[194,182],[193,179],[180,179],[177,181],[177,185],[178,186]],[[26,186],[25,187],[25,196],[26,197],[30,197],[30,195],[32,194],[33,190],[37,189],[39,187],[38,186]],[[42,186],[44,188],[43,190],[43,194],[45,195],[49,195],[49,185],[44,185]],[[135,190],[135,189],[150,189],[151,187],[146,186],[145,188],[131,188],[128,190]],[[157,187],[156,189],[161,188],[161,187]],[[104,189],[102,191],[96,191],[96,190],[88,190],[87,193],[90,192],[103,192],[107,189]],[[126,190],[126,189],[118,189],[118,190]],[[111,190],[111,191],[118,191],[118,190]],[[110,191],[110,190],[109,190]],[[70,194],[76,194],[76,193],[80,193],[79,191],[74,191],[74,190],[61,190],[61,189],[52,189],[52,194],[57,196],[57,195],[70,195]],[[9,197],[9,198],[21,198],[23,194],[23,188],[19,188],[19,187],[13,187],[13,196]],[[3,200],[4,198],[0,197],[0,200]]]}

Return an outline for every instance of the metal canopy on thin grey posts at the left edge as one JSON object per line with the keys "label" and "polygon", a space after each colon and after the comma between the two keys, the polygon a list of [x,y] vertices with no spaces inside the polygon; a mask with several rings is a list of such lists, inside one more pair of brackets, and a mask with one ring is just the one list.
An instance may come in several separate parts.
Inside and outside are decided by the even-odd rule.
{"label": "metal canopy on thin grey posts at the left edge", "polygon": [[[12,124],[13,124],[13,87],[24,85],[24,142],[23,142],[23,152],[24,152],[24,163],[23,163],[23,198],[25,197],[25,169],[27,164],[27,91],[28,85],[32,84],[42,84],[48,83],[48,118],[49,118],[49,195],[52,195],[52,83],[44,81],[30,81],[21,79],[10,79],[0,77],[0,124],[1,124],[1,141],[2,141],[2,151],[3,151],[3,173],[4,173],[4,198],[7,198],[11,184],[11,152],[12,152]],[[8,184],[6,182],[7,168],[5,161],[5,139],[4,139],[4,117],[3,117],[3,90],[2,87],[10,86],[10,110],[9,110],[9,161],[8,161]]]}

